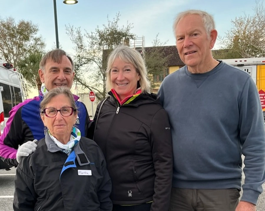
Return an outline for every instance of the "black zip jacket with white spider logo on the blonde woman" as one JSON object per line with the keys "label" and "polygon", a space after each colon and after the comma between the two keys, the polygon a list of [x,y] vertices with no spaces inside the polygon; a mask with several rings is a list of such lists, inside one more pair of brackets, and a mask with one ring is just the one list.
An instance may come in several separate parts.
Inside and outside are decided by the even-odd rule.
{"label": "black zip jacket with white spider logo on the blonde woman", "polygon": [[99,114],[94,141],[105,155],[112,203],[135,205],[153,200],[151,210],[168,210],[173,159],[166,111],[155,94],[140,94],[122,106],[112,92],[109,95]]}

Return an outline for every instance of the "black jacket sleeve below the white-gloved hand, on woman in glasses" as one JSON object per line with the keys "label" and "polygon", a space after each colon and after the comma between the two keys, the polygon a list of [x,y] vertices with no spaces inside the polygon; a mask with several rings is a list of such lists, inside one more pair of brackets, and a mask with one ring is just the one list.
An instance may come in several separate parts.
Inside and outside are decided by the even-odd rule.
{"label": "black jacket sleeve below the white-gloved hand, on woman in glasses", "polygon": [[[22,167],[23,165],[23,167]],[[19,166],[16,169],[15,176],[15,194],[13,201],[14,211],[33,211],[36,203],[36,193],[34,191],[34,178],[32,175],[27,175],[29,171],[28,157],[22,158]]]}

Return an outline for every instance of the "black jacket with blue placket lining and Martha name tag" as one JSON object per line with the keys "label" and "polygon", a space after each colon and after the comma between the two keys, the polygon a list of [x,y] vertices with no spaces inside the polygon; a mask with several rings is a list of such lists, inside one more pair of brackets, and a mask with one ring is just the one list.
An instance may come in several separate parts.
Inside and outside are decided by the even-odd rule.
{"label": "black jacket with blue placket lining and Martha name tag", "polygon": [[14,210],[111,211],[111,181],[95,141],[81,137],[67,156],[45,138],[17,167]]}

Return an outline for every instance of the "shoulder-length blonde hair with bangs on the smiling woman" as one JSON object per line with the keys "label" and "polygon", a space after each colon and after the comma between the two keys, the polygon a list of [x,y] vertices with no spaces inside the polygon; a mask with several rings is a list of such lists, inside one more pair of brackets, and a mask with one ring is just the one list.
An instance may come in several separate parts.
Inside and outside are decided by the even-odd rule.
{"label": "shoulder-length blonde hair with bangs on the smiling woman", "polygon": [[128,62],[132,64],[136,72],[140,75],[138,89],[141,89],[143,93],[150,93],[150,81],[147,76],[147,70],[145,67],[145,61],[143,60],[142,55],[137,51],[134,50],[127,45],[119,45],[117,46],[109,55],[108,57],[108,64],[107,64],[107,79],[106,79],[106,90],[109,91],[112,88],[111,79],[110,79],[110,69],[112,64],[114,63],[115,59],[120,58],[124,62]]}

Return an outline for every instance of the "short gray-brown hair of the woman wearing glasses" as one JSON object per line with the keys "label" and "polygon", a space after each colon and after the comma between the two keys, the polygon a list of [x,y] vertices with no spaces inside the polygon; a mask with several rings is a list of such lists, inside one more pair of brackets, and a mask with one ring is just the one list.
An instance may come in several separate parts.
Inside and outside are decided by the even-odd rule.
{"label": "short gray-brown hair of the woman wearing glasses", "polygon": [[40,103],[40,113],[43,115],[42,111],[47,106],[47,104],[50,102],[52,98],[54,98],[57,95],[65,95],[71,104],[71,107],[74,108],[74,114],[77,113],[77,106],[75,105],[74,97],[72,92],[67,87],[58,87],[54,88],[51,91],[49,91],[43,98],[42,102]]}

